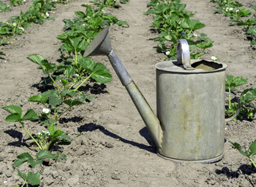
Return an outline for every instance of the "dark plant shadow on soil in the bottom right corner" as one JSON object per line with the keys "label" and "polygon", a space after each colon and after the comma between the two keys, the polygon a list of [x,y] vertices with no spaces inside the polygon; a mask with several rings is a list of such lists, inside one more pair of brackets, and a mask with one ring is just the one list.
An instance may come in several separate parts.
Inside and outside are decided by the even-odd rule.
{"label": "dark plant shadow on soil in the bottom right corner", "polygon": [[[239,178],[239,175],[245,175],[245,178],[247,178],[247,175],[256,173],[256,168],[249,164],[242,164],[236,171],[230,171],[228,167],[223,167],[222,170],[217,169],[215,172],[218,175],[224,174],[227,178]],[[251,186],[255,186],[250,178],[247,178],[247,180],[251,183]]]}

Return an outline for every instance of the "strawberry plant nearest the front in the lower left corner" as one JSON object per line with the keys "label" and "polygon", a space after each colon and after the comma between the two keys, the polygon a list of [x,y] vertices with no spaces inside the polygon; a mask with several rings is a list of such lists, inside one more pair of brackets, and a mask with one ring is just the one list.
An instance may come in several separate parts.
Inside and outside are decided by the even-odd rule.
{"label": "strawberry plant nearest the front in the lower left corner", "polygon": [[[42,164],[43,159],[53,159],[55,161],[60,161],[59,158],[64,159],[66,157],[65,154],[60,153],[59,151],[57,152],[57,155],[54,156],[52,153],[49,152],[49,146],[52,145],[54,146],[56,143],[62,143],[62,142],[70,142],[70,137],[67,136],[63,131],[56,129],[55,125],[49,125],[49,134],[45,132],[43,134],[42,132],[39,132],[36,135],[36,138],[31,135],[31,133],[28,131],[28,129],[25,127],[24,122],[25,121],[34,121],[38,120],[39,116],[35,113],[33,109],[29,109],[25,115],[22,117],[22,109],[19,106],[16,105],[9,105],[4,108],[5,111],[8,111],[10,115],[8,115],[5,118],[6,122],[19,122],[20,125],[23,126],[23,129],[27,132],[27,134],[31,137],[31,139],[34,140],[34,143],[37,144],[39,151],[37,153],[37,158],[34,160],[33,157],[31,157],[30,153],[21,153],[18,157],[17,160],[13,163],[13,168],[19,167],[21,164],[24,162],[28,162],[31,166],[31,168],[34,168],[37,164]],[[43,141],[43,139],[46,139],[47,141]],[[38,139],[38,141],[36,140]],[[59,156],[60,155],[60,156]],[[38,185],[40,183],[40,173],[39,171],[34,174],[31,171],[27,173],[21,173],[18,170],[18,175],[23,178],[25,184],[31,184],[31,185]],[[22,186],[23,186],[22,185]]]}

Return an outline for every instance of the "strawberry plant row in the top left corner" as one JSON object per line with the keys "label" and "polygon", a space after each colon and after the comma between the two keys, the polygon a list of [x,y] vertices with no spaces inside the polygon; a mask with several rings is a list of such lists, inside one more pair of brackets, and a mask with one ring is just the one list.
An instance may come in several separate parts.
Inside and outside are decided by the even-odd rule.
{"label": "strawberry plant row in the top left corner", "polygon": [[0,21],[0,46],[7,44],[13,36],[23,34],[28,27],[31,27],[31,23],[43,24],[45,20],[53,20],[50,11],[56,8],[57,3],[68,1],[33,0],[27,12],[20,11],[20,16],[12,16],[5,22]]}

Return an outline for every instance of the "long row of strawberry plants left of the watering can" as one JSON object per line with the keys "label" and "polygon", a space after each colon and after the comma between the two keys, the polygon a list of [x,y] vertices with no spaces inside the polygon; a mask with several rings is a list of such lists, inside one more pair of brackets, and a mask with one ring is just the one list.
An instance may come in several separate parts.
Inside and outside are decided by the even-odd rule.
{"label": "long row of strawberry plants left of the watering can", "polygon": [[[60,51],[60,62],[52,63],[41,55],[29,55],[27,58],[38,65],[45,74],[39,88],[40,94],[31,96],[28,101],[41,104],[42,111],[36,113],[29,109],[23,115],[22,108],[17,105],[4,107],[9,115],[6,122],[19,122],[23,129],[34,140],[38,146],[37,153],[21,153],[13,163],[13,168],[18,168],[23,163],[28,163],[30,168],[43,164],[45,159],[56,162],[67,156],[56,149],[56,145],[70,143],[71,139],[60,129],[59,120],[71,108],[85,104],[93,99],[87,94],[85,84],[89,82],[109,83],[112,76],[106,66],[100,62],[94,62],[92,58],[83,57],[88,44],[104,26],[117,24],[119,26],[128,23],[118,20],[116,17],[103,12],[103,7],[93,9],[90,5],[82,5],[85,12],[74,12],[75,18],[63,19],[65,26],[63,34],[58,39],[62,42]],[[31,134],[25,122],[34,121],[38,125],[45,126],[45,131]],[[33,157],[36,154],[35,158]],[[39,185],[40,172],[29,171],[23,173],[17,171],[17,175],[23,178],[23,185]]]}

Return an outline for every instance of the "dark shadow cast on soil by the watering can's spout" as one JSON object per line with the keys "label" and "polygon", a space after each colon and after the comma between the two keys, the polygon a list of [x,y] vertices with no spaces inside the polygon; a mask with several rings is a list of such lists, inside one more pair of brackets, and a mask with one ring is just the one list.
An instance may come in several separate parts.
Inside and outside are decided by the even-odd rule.
{"label": "dark shadow cast on soil by the watering can's spout", "polygon": [[87,123],[85,125],[81,125],[80,127],[78,127],[78,132],[92,132],[96,129],[99,129],[99,131],[103,132],[103,134],[105,134],[106,136],[110,136],[114,139],[120,139],[121,142],[128,143],[132,146],[137,146],[137,147],[139,147],[139,149],[147,150],[151,153],[156,153],[156,151],[157,151],[157,146],[155,145],[155,143],[153,143],[153,139],[150,136],[150,132],[148,132],[146,127],[141,129],[139,131],[139,134],[141,136],[143,136],[148,143],[150,143],[150,146],[146,146],[142,143],[136,143],[136,142],[133,142],[131,140],[124,139],[121,136],[117,136],[113,132],[110,132],[109,130],[105,129],[102,125],[96,125],[94,123]]}

